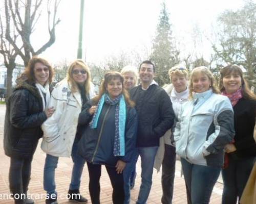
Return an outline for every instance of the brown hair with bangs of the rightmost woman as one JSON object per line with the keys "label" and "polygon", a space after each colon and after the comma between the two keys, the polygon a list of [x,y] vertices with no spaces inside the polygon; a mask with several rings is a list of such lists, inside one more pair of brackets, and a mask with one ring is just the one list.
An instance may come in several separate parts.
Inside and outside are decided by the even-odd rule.
{"label": "brown hair with bangs of the rightmost woman", "polygon": [[238,74],[240,75],[241,77],[241,89],[242,89],[242,94],[243,94],[243,97],[246,98],[246,99],[253,99],[253,100],[256,100],[256,95],[253,94],[250,89],[249,89],[249,86],[248,86],[248,83],[247,81],[244,79],[244,75],[243,75],[243,71],[240,69],[239,66],[237,65],[227,65],[225,67],[223,67],[221,70],[220,70],[220,82],[219,82],[219,87],[220,87],[220,90],[221,91],[224,91],[225,90],[225,87],[223,86],[223,78],[226,76],[226,75],[229,75],[229,74]]}

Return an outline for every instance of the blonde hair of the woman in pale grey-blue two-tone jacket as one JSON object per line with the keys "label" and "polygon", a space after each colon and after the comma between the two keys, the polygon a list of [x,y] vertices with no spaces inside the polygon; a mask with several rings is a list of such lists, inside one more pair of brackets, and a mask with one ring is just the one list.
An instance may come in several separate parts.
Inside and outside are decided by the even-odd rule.
{"label": "blonde hair of the woman in pale grey-blue two-tone jacket", "polygon": [[197,77],[197,75],[199,74],[205,74],[208,77],[208,79],[210,80],[210,88],[212,89],[212,92],[217,94],[220,93],[214,74],[212,74],[207,67],[200,66],[200,67],[194,68],[190,73],[189,86],[188,86],[189,98],[193,98],[193,90],[194,90],[193,79]]}

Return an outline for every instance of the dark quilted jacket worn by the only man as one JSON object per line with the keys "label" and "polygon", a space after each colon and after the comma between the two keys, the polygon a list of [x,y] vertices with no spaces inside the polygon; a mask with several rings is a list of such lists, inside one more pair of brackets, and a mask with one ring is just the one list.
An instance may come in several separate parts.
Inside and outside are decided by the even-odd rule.
{"label": "dark quilted jacket worn by the only man", "polygon": [[141,85],[134,87],[131,99],[135,101],[138,114],[138,147],[159,146],[159,138],[173,126],[174,110],[170,97],[165,90],[155,84],[142,90]]}

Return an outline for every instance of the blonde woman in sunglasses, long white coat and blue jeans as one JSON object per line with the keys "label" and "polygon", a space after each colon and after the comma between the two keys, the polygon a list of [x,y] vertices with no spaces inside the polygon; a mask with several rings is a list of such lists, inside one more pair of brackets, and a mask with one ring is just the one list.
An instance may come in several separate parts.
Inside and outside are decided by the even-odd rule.
{"label": "blonde woman in sunglasses, long white coat and blue jeans", "polygon": [[77,124],[82,105],[94,95],[90,75],[88,66],[83,61],[76,60],[70,65],[67,78],[56,84],[52,92],[49,107],[53,107],[55,112],[42,124],[44,137],[41,148],[47,153],[44,168],[44,189],[48,195],[46,204],[57,203],[55,169],[58,158],[70,156],[74,166],[69,199],[80,203],[87,202],[79,193],[85,160],[77,154],[77,144],[82,132],[82,127]]}

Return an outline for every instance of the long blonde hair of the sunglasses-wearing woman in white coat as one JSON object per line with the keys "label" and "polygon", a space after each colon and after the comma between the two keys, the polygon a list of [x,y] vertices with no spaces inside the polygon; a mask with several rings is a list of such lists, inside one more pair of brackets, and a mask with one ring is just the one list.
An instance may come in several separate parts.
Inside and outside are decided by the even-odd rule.
{"label": "long blonde hair of the sunglasses-wearing woman in white coat", "polygon": [[87,64],[81,59],[77,59],[74,62],[72,62],[68,69],[67,79],[68,79],[68,82],[70,82],[71,84],[71,92],[74,93],[79,90],[77,83],[74,81],[72,77],[72,71],[75,66],[78,66],[86,71],[87,79],[86,79],[86,82],[84,83],[84,89],[86,90],[87,94],[90,93],[91,72]]}

